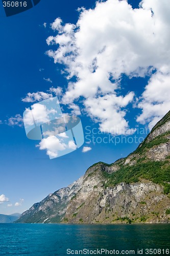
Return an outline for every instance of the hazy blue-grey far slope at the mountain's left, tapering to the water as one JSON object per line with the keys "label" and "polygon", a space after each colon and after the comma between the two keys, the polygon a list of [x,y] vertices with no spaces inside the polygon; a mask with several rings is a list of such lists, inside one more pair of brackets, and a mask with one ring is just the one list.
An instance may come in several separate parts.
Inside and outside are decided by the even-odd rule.
{"label": "hazy blue-grey far slope at the mountain's left, tapering to the water", "polygon": [[35,203],[29,210],[23,212],[16,223],[56,223],[65,215],[68,202],[81,187],[83,177],[67,187],[48,195],[41,202]]}

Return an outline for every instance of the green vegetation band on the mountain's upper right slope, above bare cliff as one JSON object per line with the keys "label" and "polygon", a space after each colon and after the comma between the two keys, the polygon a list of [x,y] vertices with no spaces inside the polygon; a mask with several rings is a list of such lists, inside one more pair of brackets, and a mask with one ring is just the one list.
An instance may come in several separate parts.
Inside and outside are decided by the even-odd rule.
{"label": "green vegetation band on the mountain's upper right slope, above bare cliff", "polygon": [[[170,120],[170,111],[154,126],[152,132],[161,125]],[[152,133],[151,132],[151,133]],[[124,165],[125,161],[120,159],[120,169],[112,174],[103,172],[103,176],[107,179],[105,187],[115,186],[121,182],[126,184],[138,182],[139,179],[151,180],[152,182],[164,187],[164,194],[170,193],[170,166],[169,156],[164,161],[147,160],[149,148],[154,148],[162,143],[169,141],[170,131],[160,134],[156,138],[147,141],[148,136],[137,147],[137,149],[129,156],[133,156],[131,160],[136,160],[134,165]],[[114,163],[115,164],[115,163]],[[117,162],[116,162],[117,164]]]}

